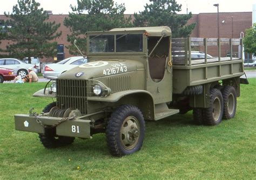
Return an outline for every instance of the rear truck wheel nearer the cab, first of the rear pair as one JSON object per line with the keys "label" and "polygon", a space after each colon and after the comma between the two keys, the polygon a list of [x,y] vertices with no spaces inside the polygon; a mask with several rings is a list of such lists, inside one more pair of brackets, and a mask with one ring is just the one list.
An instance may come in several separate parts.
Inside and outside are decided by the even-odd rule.
{"label": "rear truck wheel nearer the cab, first of the rear pair", "polygon": [[223,117],[223,96],[218,89],[211,90],[210,107],[204,109],[203,117],[206,125],[215,126],[220,124]]}

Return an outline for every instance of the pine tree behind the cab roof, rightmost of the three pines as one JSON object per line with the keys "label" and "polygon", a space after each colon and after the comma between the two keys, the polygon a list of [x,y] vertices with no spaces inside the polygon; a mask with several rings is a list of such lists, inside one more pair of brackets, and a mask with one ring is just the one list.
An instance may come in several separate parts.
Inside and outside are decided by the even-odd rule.
{"label": "pine tree behind the cab roof, rightmost of the three pines", "polygon": [[144,6],[145,10],[134,13],[134,26],[169,26],[172,30],[172,37],[188,37],[196,26],[195,23],[186,25],[187,20],[192,17],[178,15],[181,5],[176,0],[150,0],[151,4]]}

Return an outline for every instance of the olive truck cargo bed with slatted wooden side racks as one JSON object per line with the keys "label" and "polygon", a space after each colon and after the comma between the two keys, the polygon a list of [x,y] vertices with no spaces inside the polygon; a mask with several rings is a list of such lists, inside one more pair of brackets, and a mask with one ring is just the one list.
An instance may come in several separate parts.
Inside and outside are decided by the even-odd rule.
{"label": "olive truck cargo bed with slatted wooden side racks", "polygon": [[[244,61],[241,58],[220,57],[219,55],[219,57],[208,59],[206,57],[207,46],[205,48],[205,59],[192,60],[191,44],[193,44],[193,46],[202,46],[203,44],[201,44],[198,39],[207,42],[207,40],[203,38],[195,39],[198,44],[195,42],[192,43],[191,38],[179,38],[172,42],[173,93],[182,93],[186,87],[189,86],[239,77],[244,74]],[[216,45],[218,45],[218,39],[215,40]],[[221,42],[220,39],[219,44],[221,44]],[[223,42],[224,44],[225,42],[229,42],[231,45],[231,54],[232,46],[240,44],[240,40],[238,39],[231,39],[229,41],[225,39]],[[213,43],[215,42],[211,39],[211,45],[213,45]],[[177,49],[181,51],[177,51]],[[184,51],[182,49],[184,49]]]}

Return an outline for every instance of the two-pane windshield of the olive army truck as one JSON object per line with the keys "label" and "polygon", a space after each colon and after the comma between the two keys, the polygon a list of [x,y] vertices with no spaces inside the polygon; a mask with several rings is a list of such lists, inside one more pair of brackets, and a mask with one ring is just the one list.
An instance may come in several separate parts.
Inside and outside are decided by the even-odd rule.
{"label": "two-pane windshield of the olive army truck", "polygon": [[111,52],[143,52],[143,34],[90,35],[90,53]]}

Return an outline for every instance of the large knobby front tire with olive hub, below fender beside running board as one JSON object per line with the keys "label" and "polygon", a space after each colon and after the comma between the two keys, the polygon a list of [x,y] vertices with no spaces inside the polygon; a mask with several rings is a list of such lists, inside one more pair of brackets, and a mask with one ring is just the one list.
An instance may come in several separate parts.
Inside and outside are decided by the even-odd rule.
{"label": "large knobby front tire with olive hub, below fender beside running board", "polygon": [[106,141],[113,156],[129,155],[140,150],[145,134],[145,121],[136,106],[122,105],[112,114],[106,128]]}

